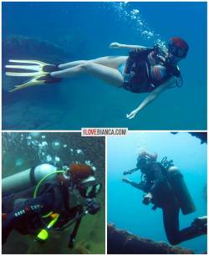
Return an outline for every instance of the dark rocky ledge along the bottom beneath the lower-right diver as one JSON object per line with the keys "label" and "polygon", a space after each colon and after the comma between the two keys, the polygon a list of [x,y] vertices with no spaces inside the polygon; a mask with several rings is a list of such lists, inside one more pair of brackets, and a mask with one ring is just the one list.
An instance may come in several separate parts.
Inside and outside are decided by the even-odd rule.
{"label": "dark rocky ledge along the bottom beneath the lower-right diver", "polygon": [[165,242],[155,242],[140,238],[125,230],[107,227],[107,253],[109,254],[194,254],[192,250],[171,246]]}

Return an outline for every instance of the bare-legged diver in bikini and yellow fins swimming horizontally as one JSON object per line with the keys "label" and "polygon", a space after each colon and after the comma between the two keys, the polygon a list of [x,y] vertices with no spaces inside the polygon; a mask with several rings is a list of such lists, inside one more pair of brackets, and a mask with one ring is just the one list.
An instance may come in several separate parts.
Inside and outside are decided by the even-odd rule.
{"label": "bare-legged diver in bikini and yellow fins swimming horizontally", "polygon": [[[132,119],[146,105],[155,100],[164,90],[182,86],[182,77],[177,64],[186,58],[189,46],[185,40],[174,37],[168,41],[168,48],[155,44],[149,48],[140,45],[110,44],[110,48],[130,49],[129,56],[107,56],[99,59],[78,60],[67,64],[46,64],[37,60],[15,60],[6,65],[8,76],[31,77],[28,82],[15,86],[13,90],[37,84],[57,83],[63,78],[78,74],[90,74],[94,77],[132,93],[149,93],[142,103],[129,115]],[[27,73],[19,70],[29,70]]]}

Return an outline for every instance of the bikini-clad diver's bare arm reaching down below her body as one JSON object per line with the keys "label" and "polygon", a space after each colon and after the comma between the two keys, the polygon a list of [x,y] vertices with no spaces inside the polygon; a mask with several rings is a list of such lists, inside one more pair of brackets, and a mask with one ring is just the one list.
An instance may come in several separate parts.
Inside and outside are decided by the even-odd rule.
{"label": "bikini-clad diver's bare arm reaching down below her body", "polygon": [[135,118],[135,115],[140,112],[140,110],[143,110],[146,105],[149,105],[153,100],[155,100],[158,95],[160,95],[166,88],[171,86],[171,84],[174,84],[176,82],[176,77],[172,76],[171,79],[168,79],[165,83],[161,84],[159,87],[157,87],[155,90],[150,92],[150,95],[148,95],[145,100],[142,101],[142,103],[138,106],[137,109],[133,110],[130,114],[127,114],[126,117],[128,119]]}

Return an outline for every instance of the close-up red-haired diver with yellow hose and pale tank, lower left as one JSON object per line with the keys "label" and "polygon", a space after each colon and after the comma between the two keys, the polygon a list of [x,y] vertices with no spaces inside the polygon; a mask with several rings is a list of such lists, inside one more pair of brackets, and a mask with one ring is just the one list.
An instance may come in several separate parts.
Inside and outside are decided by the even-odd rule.
{"label": "close-up red-haired diver with yellow hose and pale tank, lower left", "polygon": [[[99,212],[95,197],[100,189],[93,169],[84,164],[71,164],[66,171],[41,164],[3,178],[3,243],[13,229],[43,242],[50,230],[60,232],[74,224],[69,236],[73,248],[81,219]],[[33,197],[19,196],[31,192]]]}

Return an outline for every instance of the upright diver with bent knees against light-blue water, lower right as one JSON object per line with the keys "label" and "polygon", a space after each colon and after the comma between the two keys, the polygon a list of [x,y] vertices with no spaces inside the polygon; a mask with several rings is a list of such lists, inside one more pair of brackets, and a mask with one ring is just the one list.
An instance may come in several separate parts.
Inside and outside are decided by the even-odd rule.
{"label": "upright diver with bent knees against light-blue water, lower right", "polygon": [[126,177],[122,181],[146,193],[143,199],[145,205],[151,202],[154,204],[153,210],[157,207],[162,209],[166,237],[172,245],[206,234],[206,216],[195,218],[190,227],[180,230],[180,209],[186,215],[195,212],[196,207],[183,176],[173,161],[168,161],[166,156],[161,162],[156,160],[156,154],[140,152],[136,167],[124,172],[127,175],[140,170],[140,183],[132,182]]}

